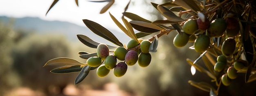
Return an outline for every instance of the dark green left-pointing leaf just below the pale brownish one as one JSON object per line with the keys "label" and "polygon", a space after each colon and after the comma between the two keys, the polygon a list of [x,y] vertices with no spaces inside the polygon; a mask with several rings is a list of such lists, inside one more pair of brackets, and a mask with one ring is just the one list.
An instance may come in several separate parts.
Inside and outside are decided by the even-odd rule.
{"label": "dark green left-pointing leaf just below the pale brownish one", "polygon": [[78,66],[72,66],[72,67],[68,67],[68,68],[55,68],[52,69],[50,72],[54,73],[54,74],[65,74],[65,73],[72,73],[72,72],[78,72],[81,71],[83,67],[81,67],[80,65]]}

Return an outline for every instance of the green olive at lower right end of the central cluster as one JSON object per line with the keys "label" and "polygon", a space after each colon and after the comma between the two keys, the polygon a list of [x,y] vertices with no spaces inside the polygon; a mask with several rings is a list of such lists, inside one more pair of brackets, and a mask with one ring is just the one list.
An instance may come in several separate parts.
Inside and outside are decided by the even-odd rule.
{"label": "green olive at lower right end of the central cluster", "polygon": [[139,64],[140,67],[147,67],[150,64],[150,61],[151,61],[150,53],[148,53],[148,54],[144,54],[144,53],[139,54],[138,64]]}

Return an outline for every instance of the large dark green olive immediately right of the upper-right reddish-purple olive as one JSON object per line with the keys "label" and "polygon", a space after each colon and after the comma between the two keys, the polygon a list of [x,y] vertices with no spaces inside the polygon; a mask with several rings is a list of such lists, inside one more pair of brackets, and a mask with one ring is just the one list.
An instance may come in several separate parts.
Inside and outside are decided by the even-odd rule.
{"label": "large dark green olive immediately right of the upper-right reddish-purple olive", "polygon": [[220,37],[225,33],[226,29],[226,21],[222,18],[217,18],[211,22],[206,34],[209,37]]}

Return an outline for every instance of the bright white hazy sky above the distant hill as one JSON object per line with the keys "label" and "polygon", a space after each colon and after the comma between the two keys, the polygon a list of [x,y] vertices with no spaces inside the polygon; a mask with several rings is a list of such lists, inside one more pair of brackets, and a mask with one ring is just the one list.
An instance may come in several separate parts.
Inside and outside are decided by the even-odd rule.
{"label": "bright white hazy sky above the distant hill", "polygon": [[[92,20],[99,23],[107,29],[118,29],[111,20],[108,11],[112,13],[121,22],[121,13],[124,11],[129,0],[115,0],[110,9],[103,14],[99,14],[100,10],[108,2],[88,2],[87,0],[79,0],[79,7],[76,6],[75,0],[59,0],[58,3],[48,12],[50,5],[54,0],[0,0],[0,16],[21,17],[39,17],[44,20],[61,20],[72,22],[77,25],[85,26],[83,19]],[[128,12],[135,13],[143,18],[150,19],[145,10],[152,10],[153,7],[146,8],[141,5],[142,0],[132,0]],[[147,2],[150,4],[150,0]],[[121,31],[121,30],[120,30]]]}

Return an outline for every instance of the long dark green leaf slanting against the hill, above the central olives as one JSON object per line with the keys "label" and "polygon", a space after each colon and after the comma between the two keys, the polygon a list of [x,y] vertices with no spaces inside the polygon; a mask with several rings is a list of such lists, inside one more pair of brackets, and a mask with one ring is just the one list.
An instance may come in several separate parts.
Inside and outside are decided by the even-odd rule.
{"label": "long dark green leaf slanting against the hill, above the central olives", "polygon": [[91,20],[83,20],[85,25],[95,34],[98,36],[101,36],[102,38],[105,38],[106,40],[109,40],[110,42],[114,43],[115,45],[118,46],[123,46],[123,44],[111,33],[108,31],[108,29],[102,27],[96,22],[93,22]]}

